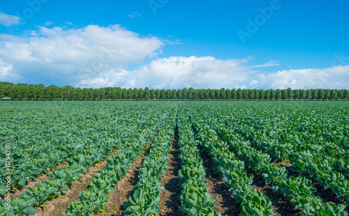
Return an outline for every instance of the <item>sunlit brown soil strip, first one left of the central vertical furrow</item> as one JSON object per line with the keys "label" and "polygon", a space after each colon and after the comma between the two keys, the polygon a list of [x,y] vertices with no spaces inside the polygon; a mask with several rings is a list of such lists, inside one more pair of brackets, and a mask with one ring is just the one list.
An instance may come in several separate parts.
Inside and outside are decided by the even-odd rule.
{"label": "sunlit brown soil strip, first one left of the central vertical furrow", "polygon": [[106,213],[97,213],[97,215],[124,215],[124,202],[128,201],[128,197],[133,196],[133,188],[137,185],[139,180],[138,174],[140,172],[140,167],[144,161],[144,157],[149,154],[150,148],[151,144],[148,145],[147,153],[142,157],[138,157],[138,160],[133,162],[133,168],[128,170],[126,176],[121,178],[119,185],[115,187],[115,191],[110,194],[107,206],[104,208]]}

